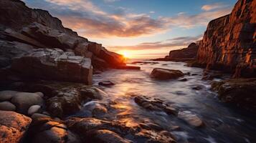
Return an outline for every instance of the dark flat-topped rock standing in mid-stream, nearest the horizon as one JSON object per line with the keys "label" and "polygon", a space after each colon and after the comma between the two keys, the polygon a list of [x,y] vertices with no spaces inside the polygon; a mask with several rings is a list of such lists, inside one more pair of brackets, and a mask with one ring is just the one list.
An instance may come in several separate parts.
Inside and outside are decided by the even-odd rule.
{"label": "dark flat-topped rock standing in mid-stream, nearest the horizon", "polygon": [[184,77],[184,74],[179,70],[155,68],[153,71],[151,71],[151,77],[161,80],[177,79],[179,77]]}

